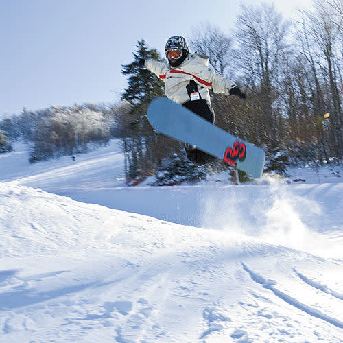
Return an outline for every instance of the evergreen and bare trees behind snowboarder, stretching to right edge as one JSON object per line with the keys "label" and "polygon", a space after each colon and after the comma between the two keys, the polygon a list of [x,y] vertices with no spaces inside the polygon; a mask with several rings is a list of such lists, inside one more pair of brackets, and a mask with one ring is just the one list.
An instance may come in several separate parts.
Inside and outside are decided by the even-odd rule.
{"label": "evergreen and bare trees behind snowboarder, stretching to right edge", "polygon": [[[216,125],[264,147],[267,170],[285,171],[287,163],[342,159],[343,4],[315,0],[313,5],[292,21],[274,5],[242,6],[228,34],[206,24],[194,28],[189,39],[192,51],[208,55],[215,71],[247,93],[245,102],[211,95]],[[159,136],[147,124],[147,104],[161,96],[163,83],[137,67],[140,58],[162,59],[141,40],[132,63],[123,66],[128,75],[123,99],[132,107],[121,126],[131,178],[161,171],[163,161],[170,162],[175,154],[177,163],[184,156],[180,143]]]}

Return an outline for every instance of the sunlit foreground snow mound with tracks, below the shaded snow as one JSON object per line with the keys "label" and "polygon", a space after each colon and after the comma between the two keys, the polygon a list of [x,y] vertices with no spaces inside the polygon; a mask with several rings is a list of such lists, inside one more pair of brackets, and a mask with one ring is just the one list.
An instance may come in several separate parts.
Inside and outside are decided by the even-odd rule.
{"label": "sunlit foreground snow mound with tracks, below the shaded snow", "polygon": [[13,184],[0,233],[3,342],[342,342],[340,259]]}

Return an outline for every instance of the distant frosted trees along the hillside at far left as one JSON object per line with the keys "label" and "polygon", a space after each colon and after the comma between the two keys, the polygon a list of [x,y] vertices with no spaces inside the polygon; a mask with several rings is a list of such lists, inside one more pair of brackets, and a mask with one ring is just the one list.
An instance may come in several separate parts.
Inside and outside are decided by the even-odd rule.
{"label": "distant frosted trees along the hillside at far left", "polygon": [[[51,106],[43,110],[23,109],[19,115],[0,121],[0,132],[8,141],[32,143],[29,161],[87,152],[108,143],[117,133],[121,106]],[[1,145],[1,134],[0,134]]]}

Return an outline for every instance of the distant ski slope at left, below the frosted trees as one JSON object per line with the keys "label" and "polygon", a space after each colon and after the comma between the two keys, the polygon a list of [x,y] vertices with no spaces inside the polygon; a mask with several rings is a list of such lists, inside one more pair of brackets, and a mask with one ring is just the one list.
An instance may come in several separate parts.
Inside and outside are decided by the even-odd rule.
{"label": "distant ski slope at left, below the frosted trees", "polygon": [[88,154],[77,154],[73,162],[63,156],[29,163],[29,147],[14,145],[14,152],[0,154],[0,181],[38,187],[54,193],[70,189],[99,189],[125,185],[120,140]]}

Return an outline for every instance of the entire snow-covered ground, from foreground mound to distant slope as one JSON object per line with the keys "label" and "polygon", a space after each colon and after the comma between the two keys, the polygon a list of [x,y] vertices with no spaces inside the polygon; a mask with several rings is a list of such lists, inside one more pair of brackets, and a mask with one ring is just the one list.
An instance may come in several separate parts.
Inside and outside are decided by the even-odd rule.
{"label": "entire snow-covered ground, from foreground mound to distant slope", "polygon": [[126,187],[119,141],[27,149],[0,155],[0,342],[343,342],[342,169]]}

